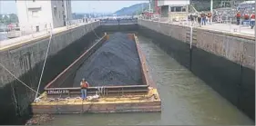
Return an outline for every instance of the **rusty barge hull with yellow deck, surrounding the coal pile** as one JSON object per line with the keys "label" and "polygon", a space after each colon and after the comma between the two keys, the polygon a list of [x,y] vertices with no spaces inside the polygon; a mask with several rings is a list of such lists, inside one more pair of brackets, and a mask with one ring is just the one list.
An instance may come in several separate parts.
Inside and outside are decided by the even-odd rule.
{"label": "rusty barge hull with yellow deck, surrounding the coal pile", "polygon": [[[104,43],[108,42],[110,34],[105,34],[96,44],[81,54],[74,63],[49,82],[44,92],[32,103],[35,114],[44,113],[85,113],[85,112],[159,112],[161,100],[155,83],[149,78],[146,58],[139,49],[135,34],[127,34],[128,39],[136,43],[140,60],[142,83],[138,85],[89,87],[87,97],[96,99],[83,101],[80,98],[80,87],[67,87],[68,80],[76,73],[79,66]],[[64,86],[66,85],[66,86]]]}

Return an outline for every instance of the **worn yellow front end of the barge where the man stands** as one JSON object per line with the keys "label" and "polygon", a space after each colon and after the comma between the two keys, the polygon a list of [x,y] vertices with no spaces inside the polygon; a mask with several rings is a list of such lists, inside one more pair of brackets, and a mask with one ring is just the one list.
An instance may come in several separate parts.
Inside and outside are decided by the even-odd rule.
{"label": "worn yellow front end of the barge where the man stands", "polygon": [[79,97],[51,99],[47,98],[46,93],[42,95],[40,102],[32,103],[33,112],[36,114],[161,111],[159,93],[156,89],[149,89],[148,94],[106,96],[91,102],[83,101]]}

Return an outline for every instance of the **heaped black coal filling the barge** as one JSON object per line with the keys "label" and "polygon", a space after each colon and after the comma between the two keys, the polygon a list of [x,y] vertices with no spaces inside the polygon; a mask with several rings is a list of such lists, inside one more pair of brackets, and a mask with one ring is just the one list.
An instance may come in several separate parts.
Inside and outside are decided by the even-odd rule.
{"label": "heaped black coal filling the barge", "polygon": [[85,78],[90,86],[137,85],[142,83],[135,42],[127,34],[109,37],[77,70],[74,87]]}

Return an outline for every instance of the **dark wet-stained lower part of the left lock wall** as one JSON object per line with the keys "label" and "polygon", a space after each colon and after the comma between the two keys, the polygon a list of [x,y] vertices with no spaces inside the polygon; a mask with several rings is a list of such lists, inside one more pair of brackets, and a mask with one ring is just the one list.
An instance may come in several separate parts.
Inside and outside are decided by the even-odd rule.
{"label": "dark wet-stained lower part of the left lock wall", "polygon": [[[100,35],[98,31],[99,29],[95,30]],[[52,81],[58,73],[61,73],[70,63],[73,63],[81,53],[84,53],[92,43],[96,42],[96,39],[95,33],[90,32],[76,42],[69,44],[54,56],[49,56],[39,91],[42,92],[47,82]],[[19,79],[36,90],[36,83],[39,81],[42,67],[43,61],[36,63],[34,68],[20,76]],[[5,72],[4,69],[1,71]],[[29,104],[35,99],[35,92],[30,91],[20,82],[14,81],[5,83],[5,86],[0,89],[0,99],[3,101],[0,102],[1,124],[23,124],[30,117]]]}

